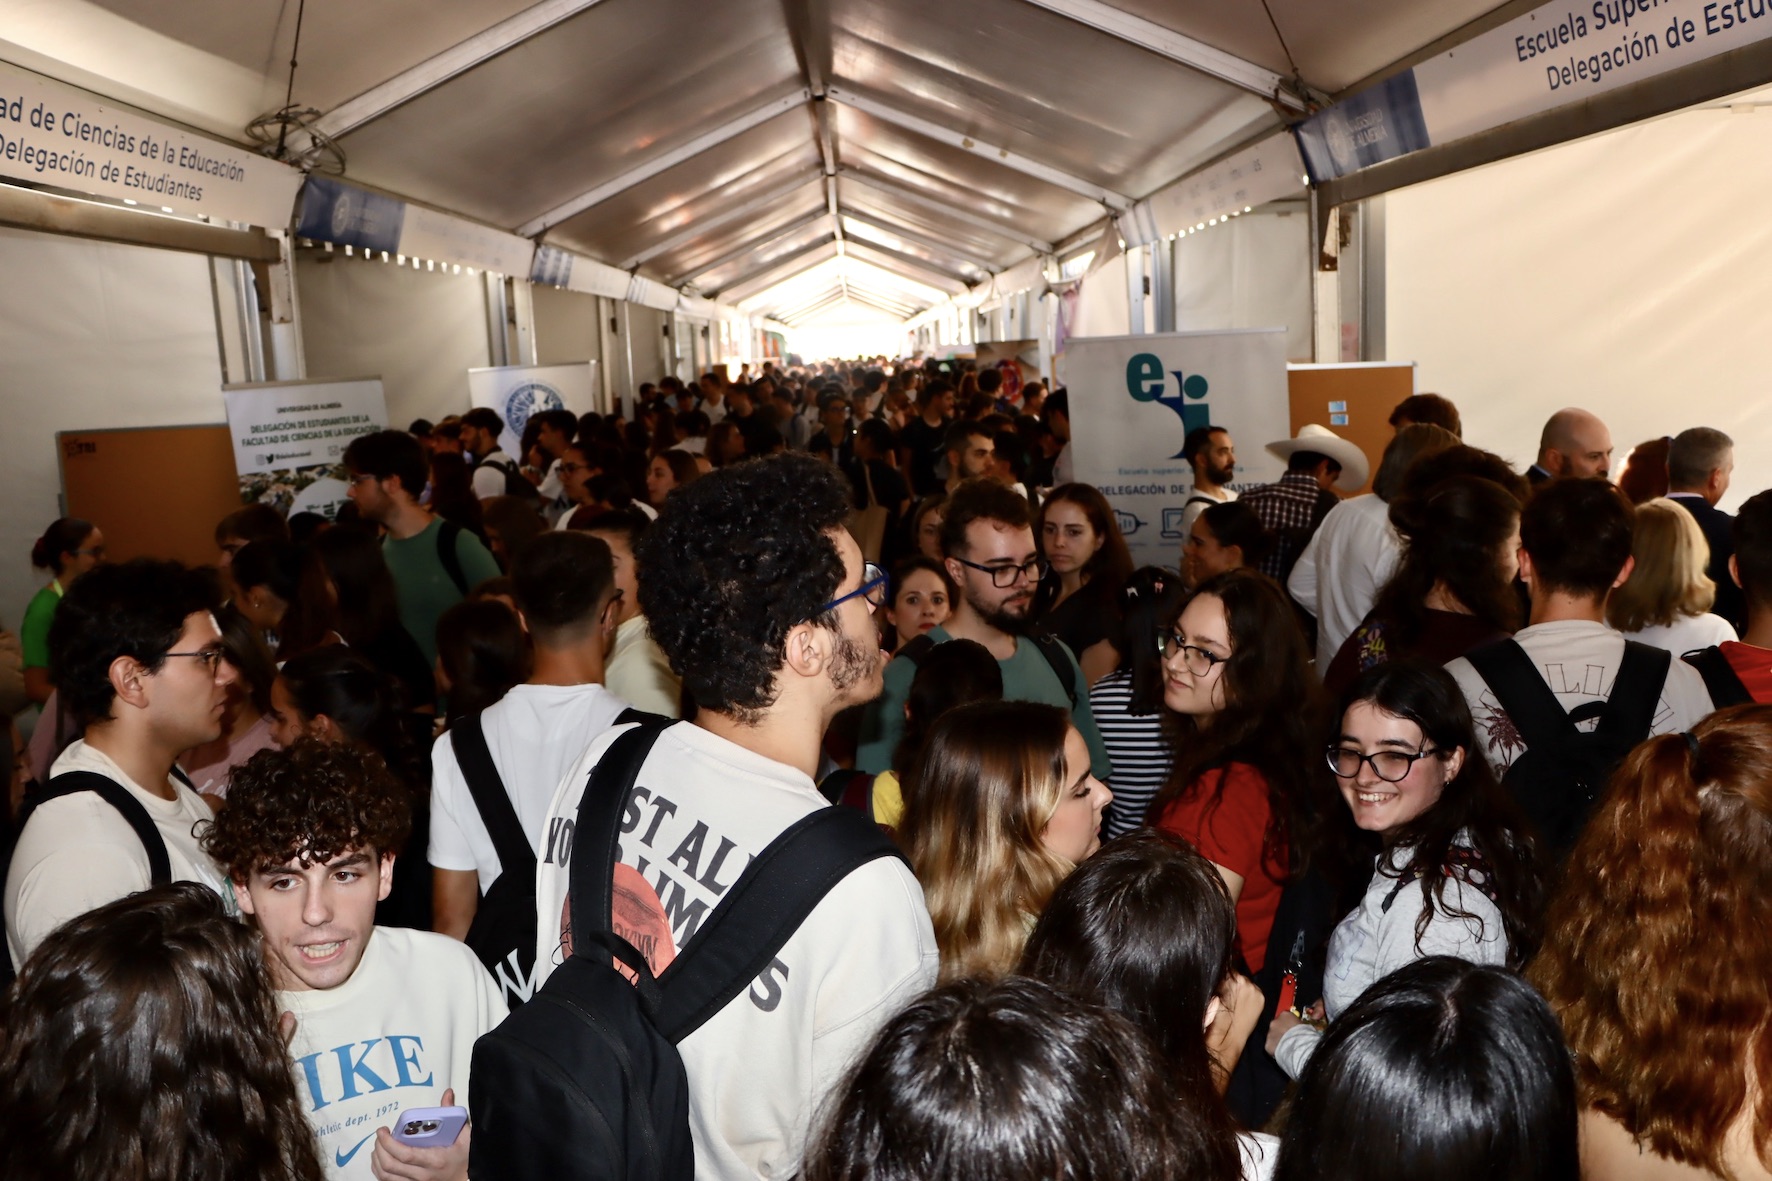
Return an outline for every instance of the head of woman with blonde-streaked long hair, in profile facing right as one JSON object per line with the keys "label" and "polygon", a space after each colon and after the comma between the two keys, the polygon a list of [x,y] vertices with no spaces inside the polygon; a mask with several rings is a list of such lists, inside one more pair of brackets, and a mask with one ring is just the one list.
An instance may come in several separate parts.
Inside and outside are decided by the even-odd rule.
{"label": "head of woman with blonde-streaked long hair, in profile facing right", "polygon": [[900,842],[923,883],[941,979],[1005,975],[1058,883],[1100,846],[1113,793],[1070,713],[960,706],[930,729]]}

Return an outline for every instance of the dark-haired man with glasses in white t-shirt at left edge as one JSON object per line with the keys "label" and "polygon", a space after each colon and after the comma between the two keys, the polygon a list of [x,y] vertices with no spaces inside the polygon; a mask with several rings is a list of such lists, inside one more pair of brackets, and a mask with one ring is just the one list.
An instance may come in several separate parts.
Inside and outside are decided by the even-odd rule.
{"label": "dark-haired man with glasses in white t-shirt at left edge", "polygon": [[234,669],[214,580],[177,562],[101,566],[62,598],[50,670],[85,723],[21,816],[5,880],[14,968],[62,922],[165,881],[200,881],[234,910],[191,828],[213,812],[174,764],[222,736]]}

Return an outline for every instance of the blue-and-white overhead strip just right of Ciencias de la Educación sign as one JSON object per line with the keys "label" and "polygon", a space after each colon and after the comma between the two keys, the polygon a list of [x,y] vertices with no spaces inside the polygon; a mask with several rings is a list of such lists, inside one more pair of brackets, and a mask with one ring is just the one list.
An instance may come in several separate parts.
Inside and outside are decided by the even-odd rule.
{"label": "blue-and-white overhead strip just right of Ciencias de la Educaci\u00f3n sign", "polygon": [[535,243],[528,238],[324,176],[310,176],[301,186],[296,236],[496,275],[528,277],[535,259]]}

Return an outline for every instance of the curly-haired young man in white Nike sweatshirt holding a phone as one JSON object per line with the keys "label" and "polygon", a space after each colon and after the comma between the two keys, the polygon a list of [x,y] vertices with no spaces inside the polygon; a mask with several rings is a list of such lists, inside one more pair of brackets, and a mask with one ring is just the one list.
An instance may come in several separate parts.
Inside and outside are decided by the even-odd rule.
{"label": "curly-haired young man in white Nike sweatshirt holding a phone", "polygon": [[289,1053],[328,1176],[468,1176],[452,1147],[393,1140],[415,1107],[468,1105],[473,1043],[505,1018],[498,984],[462,943],[377,927],[393,851],[411,830],[408,789],[351,743],[298,741],[234,768],[202,842],[264,940]]}

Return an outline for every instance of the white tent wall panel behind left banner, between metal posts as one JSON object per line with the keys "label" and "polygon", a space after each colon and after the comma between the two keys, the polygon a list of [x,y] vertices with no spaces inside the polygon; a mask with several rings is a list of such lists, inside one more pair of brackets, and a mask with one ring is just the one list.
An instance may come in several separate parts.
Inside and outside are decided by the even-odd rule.
{"label": "white tent wall panel behind left banner, between metal posts", "polygon": [[301,250],[296,287],[310,378],[379,376],[395,427],[468,410],[468,371],[493,364],[482,275]]}

